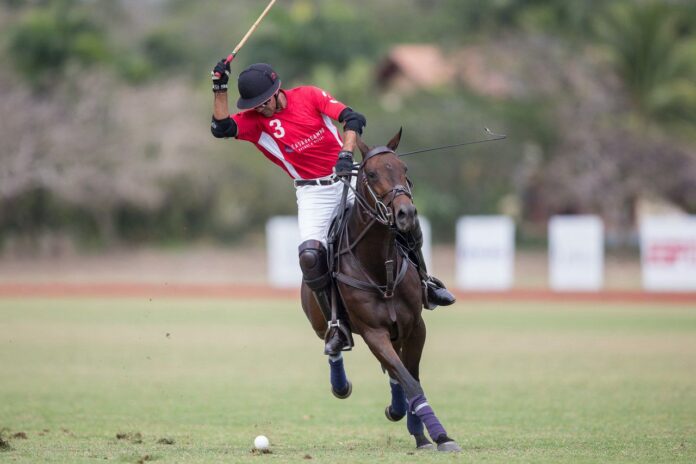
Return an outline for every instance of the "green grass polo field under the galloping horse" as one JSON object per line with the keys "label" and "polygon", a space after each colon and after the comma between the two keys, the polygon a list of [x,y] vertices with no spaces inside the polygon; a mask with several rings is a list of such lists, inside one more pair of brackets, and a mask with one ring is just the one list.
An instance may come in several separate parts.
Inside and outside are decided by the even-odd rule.
{"label": "green grass polo field under the galloping horse", "polygon": [[[361,340],[335,399],[295,302],[0,300],[0,462],[696,462],[696,308],[425,317],[423,386],[459,455],[415,452],[384,418]],[[271,454],[250,452],[259,434]]]}

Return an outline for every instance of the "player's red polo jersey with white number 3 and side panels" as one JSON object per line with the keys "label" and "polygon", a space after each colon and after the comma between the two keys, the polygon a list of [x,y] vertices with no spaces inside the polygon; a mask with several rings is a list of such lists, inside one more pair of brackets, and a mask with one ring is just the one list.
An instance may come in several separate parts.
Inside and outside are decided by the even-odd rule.
{"label": "player's red polo jersey with white number 3 and side panels", "polygon": [[346,105],[317,87],[282,92],[287,106],[270,118],[254,110],[232,115],[237,138],[256,145],[293,179],[328,176],[343,146],[332,119],[338,120]]}

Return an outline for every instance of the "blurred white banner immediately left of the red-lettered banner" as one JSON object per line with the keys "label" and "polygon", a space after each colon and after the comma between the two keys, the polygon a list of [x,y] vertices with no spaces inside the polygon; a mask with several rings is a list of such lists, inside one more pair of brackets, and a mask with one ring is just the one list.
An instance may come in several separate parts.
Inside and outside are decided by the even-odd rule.
{"label": "blurred white banner immediately left of the red-lettered banner", "polygon": [[553,216],[549,221],[549,283],[553,290],[601,290],[604,224],[598,216]]}

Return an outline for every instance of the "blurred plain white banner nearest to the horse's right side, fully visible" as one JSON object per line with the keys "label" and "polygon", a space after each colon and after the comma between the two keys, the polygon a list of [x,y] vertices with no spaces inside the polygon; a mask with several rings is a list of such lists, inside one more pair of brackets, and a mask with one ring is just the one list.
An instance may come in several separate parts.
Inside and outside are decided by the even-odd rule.
{"label": "blurred plain white banner nearest to the horse's right side, fully visible", "polygon": [[457,286],[467,290],[512,287],[515,225],[507,216],[465,216],[457,221]]}

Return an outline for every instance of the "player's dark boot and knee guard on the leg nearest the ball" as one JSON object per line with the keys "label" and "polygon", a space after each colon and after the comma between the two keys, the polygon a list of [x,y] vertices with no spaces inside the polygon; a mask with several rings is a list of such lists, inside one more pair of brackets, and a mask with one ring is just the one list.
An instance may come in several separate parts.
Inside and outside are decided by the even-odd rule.
{"label": "player's dark boot and knee guard on the leg nearest the ball", "polygon": [[324,245],[318,240],[307,240],[302,242],[299,252],[302,278],[312,290],[327,323],[324,354],[335,356],[341,351],[350,350],[353,347],[353,337],[347,321],[339,319],[336,315],[336,322],[332,323],[331,286],[333,283]]}

